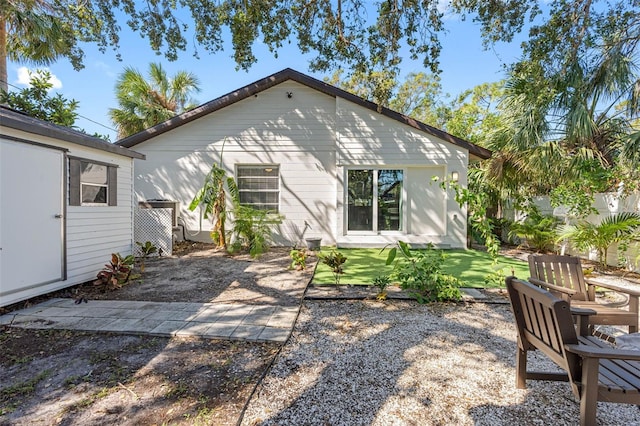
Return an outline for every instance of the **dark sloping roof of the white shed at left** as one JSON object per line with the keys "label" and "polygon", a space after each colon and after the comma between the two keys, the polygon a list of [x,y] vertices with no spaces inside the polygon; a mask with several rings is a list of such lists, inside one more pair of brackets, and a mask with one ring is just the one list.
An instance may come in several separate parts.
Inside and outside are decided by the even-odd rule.
{"label": "dark sloping roof of the white shed at left", "polygon": [[103,139],[89,136],[86,133],[79,132],[69,127],[58,126],[57,124],[49,123],[48,121],[40,120],[0,105],[0,136],[4,135],[1,130],[3,127],[21,130],[23,132],[33,133],[40,136],[47,136],[65,142],[123,155],[129,158],[138,158],[140,160],[145,159],[143,154],[124,146],[112,144]]}

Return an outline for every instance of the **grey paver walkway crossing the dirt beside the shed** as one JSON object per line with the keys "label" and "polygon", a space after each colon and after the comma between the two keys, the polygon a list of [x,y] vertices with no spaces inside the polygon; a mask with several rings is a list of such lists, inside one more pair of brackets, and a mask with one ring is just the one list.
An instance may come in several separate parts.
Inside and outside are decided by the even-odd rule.
{"label": "grey paver walkway crossing the dirt beside the shed", "polygon": [[298,306],[122,300],[77,305],[73,299],[50,299],[0,316],[0,325],[284,342],[298,310]]}

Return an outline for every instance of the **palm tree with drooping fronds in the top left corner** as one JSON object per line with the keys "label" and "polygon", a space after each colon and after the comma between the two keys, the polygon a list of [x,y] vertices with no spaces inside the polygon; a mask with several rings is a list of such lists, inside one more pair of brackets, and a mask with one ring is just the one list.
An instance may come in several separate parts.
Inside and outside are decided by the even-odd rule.
{"label": "palm tree with drooping fronds in the top left corner", "polygon": [[[62,56],[80,68],[80,39],[90,40],[91,30],[69,25],[66,7],[47,0],[0,1],[0,90],[8,91],[7,58],[15,62],[49,65]],[[80,6],[79,6],[80,7]],[[83,11],[86,9],[83,7]],[[85,21],[93,15],[83,15]],[[86,28],[91,28],[89,23]]]}

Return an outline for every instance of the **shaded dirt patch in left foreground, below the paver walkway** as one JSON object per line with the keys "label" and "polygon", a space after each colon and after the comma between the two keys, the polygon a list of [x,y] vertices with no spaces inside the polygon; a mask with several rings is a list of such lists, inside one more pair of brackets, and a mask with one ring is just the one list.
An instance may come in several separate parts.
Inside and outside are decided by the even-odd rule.
{"label": "shaded dirt patch in left foreground, below the paver walkway", "polygon": [[5,330],[0,424],[235,424],[273,343]]}

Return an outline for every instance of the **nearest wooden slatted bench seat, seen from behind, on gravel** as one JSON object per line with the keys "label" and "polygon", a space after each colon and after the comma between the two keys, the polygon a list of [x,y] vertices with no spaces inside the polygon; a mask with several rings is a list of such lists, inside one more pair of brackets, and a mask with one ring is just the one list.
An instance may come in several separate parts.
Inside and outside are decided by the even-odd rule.
{"label": "nearest wooden slatted bench seat, seen from behind, on gravel", "polygon": [[[596,424],[597,401],[640,404],[640,351],[620,350],[587,335],[578,335],[573,311],[562,300],[527,281],[507,278],[507,290],[518,329],[516,386],[527,380],[568,381],[580,400],[580,424]],[[539,350],[564,373],[527,370],[527,353]],[[639,413],[640,416],[640,413]]]}

